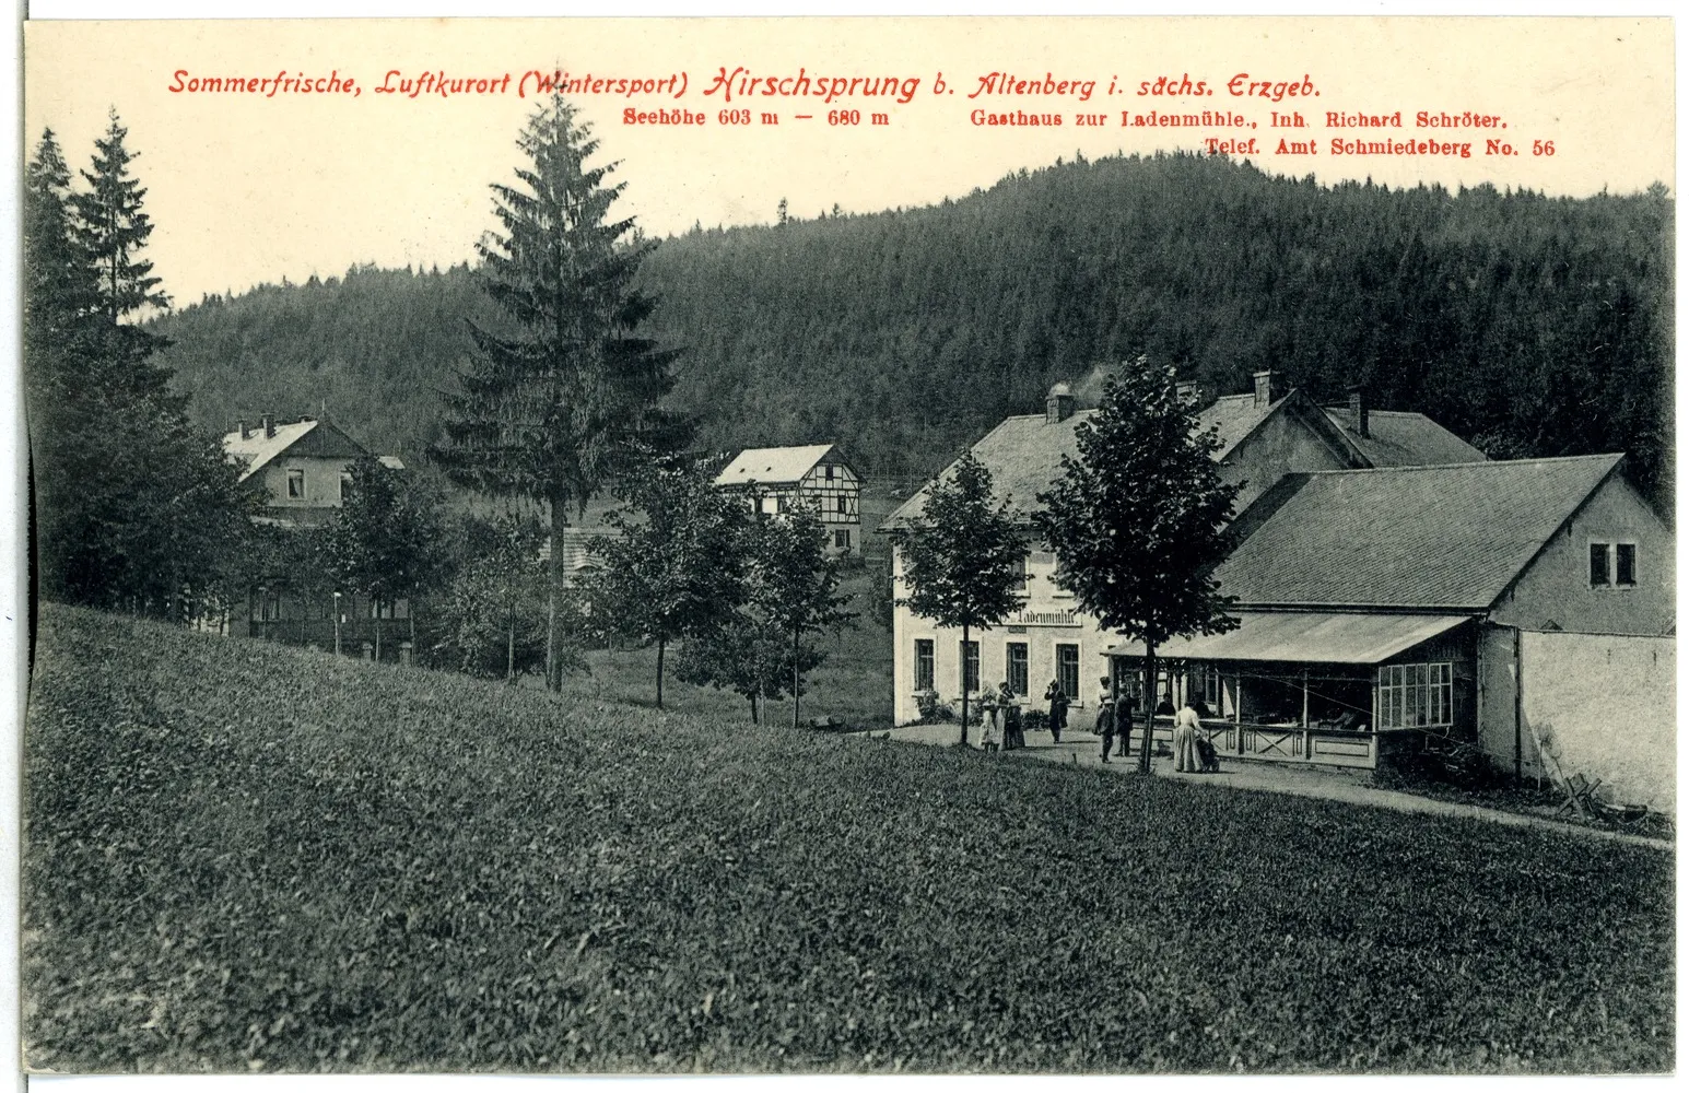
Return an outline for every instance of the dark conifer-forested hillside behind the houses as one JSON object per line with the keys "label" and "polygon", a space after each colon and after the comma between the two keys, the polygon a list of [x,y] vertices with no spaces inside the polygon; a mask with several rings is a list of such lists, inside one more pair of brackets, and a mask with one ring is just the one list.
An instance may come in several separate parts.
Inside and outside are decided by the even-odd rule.
{"label": "dark conifer-forested hillside behind the houses", "polygon": [[[1056,380],[1149,353],[1218,390],[1365,380],[1496,456],[1670,463],[1672,225],[1647,194],[1322,188],[1194,155],[1057,162],[941,206],[692,230],[642,280],[714,448],[836,439],[926,473]],[[157,323],[206,424],[316,412],[417,456],[493,316],[464,267],[208,299]]]}

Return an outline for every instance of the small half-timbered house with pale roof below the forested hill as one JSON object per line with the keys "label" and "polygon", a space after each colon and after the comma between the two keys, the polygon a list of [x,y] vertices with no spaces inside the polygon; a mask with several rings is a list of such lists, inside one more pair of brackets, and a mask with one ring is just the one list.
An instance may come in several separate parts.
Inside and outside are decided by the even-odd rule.
{"label": "small half-timbered house with pale roof below the forested hill", "polygon": [[745,495],[768,515],[809,505],[833,554],[861,554],[861,475],[838,444],[747,448],[716,475],[716,488]]}

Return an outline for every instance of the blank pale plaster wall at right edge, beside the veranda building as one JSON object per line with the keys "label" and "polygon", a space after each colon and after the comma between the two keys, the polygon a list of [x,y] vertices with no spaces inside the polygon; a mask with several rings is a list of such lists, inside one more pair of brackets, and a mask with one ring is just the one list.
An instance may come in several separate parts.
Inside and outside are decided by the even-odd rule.
{"label": "blank pale plaster wall at right edge, beside the veranda building", "polygon": [[1525,632],[1522,659],[1525,735],[1547,774],[1675,814],[1677,639]]}

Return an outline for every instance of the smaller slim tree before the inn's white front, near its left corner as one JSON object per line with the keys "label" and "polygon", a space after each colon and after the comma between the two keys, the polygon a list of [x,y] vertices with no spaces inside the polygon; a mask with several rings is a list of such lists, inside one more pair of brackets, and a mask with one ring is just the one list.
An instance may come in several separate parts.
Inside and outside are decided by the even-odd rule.
{"label": "smaller slim tree before the inn's white front, near its left corner", "polygon": [[909,586],[899,603],[939,627],[961,627],[961,743],[968,743],[969,634],[1020,606],[1025,539],[1008,498],[991,503],[991,471],[968,451],[927,492],[921,515],[892,532],[892,542]]}

